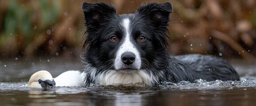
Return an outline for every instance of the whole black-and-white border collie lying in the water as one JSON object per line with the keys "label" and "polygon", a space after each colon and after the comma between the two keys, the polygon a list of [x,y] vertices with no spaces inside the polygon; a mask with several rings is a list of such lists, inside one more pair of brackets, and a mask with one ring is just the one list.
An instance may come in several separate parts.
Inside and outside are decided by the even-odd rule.
{"label": "whole black-and-white border collie lying in the water", "polygon": [[83,56],[85,85],[240,80],[232,66],[214,56],[172,56],[167,39],[170,3],[142,4],[134,14],[117,15],[106,3],[83,3],[87,30]]}

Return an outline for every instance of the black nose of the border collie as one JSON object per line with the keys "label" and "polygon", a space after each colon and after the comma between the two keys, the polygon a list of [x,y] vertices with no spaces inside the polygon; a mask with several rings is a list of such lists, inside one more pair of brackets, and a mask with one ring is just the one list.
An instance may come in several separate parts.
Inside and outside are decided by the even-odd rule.
{"label": "black nose of the border collie", "polygon": [[132,64],[135,61],[135,54],[132,52],[125,52],[121,56],[124,64]]}

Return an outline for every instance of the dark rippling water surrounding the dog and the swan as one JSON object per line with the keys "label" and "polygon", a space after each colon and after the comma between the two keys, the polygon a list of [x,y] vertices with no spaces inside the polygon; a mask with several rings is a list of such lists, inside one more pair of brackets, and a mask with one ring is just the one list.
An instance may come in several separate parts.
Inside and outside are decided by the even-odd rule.
{"label": "dark rippling water surrounding the dog and the swan", "polygon": [[182,81],[157,87],[136,85],[57,87],[43,90],[27,87],[29,77],[48,70],[54,77],[67,70],[81,70],[78,60],[0,60],[0,106],[255,106],[256,65],[231,60],[241,81]]}

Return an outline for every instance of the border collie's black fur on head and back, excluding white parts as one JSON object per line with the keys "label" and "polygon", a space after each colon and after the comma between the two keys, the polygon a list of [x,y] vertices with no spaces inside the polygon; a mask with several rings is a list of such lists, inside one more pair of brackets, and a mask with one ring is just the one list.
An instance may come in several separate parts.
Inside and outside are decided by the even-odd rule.
{"label": "border collie's black fur on head and back, excluding white parts", "polygon": [[[153,85],[182,80],[194,82],[196,79],[239,80],[232,66],[218,57],[200,54],[171,56],[167,52],[167,27],[169,14],[172,12],[170,3],[143,4],[134,14],[124,15],[117,15],[116,9],[106,3],[83,3],[82,11],[87,27],[84,36],[87,84],[95,83],[90,74],[91,69],[96,69],[96,74],[107,74],[107,70],[115,70],[113,60],[124,38],[123,27],[120,26],[124,18],[132,22],[132,42],[142,58],[141,69],[148,74],[153,73],[159,79]],[[111,42],[109,39],[112,35],[116,35],[120,41]],[[147,40],[137,42],[140,35],[144,35]]]}

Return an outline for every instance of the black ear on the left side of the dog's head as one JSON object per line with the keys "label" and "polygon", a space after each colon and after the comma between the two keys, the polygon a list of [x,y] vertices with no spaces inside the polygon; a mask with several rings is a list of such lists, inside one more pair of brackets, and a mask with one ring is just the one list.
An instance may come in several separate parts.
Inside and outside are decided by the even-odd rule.
{"label": "black ear on the left side of the dog's head", "polygon": [[85,15],[85,25],[97,25],[103,23],[107,18],[116,15],[116,8],[106,3],[86,3],[82,4],[82,11]]}

